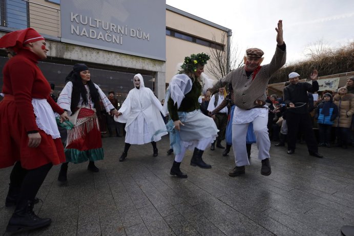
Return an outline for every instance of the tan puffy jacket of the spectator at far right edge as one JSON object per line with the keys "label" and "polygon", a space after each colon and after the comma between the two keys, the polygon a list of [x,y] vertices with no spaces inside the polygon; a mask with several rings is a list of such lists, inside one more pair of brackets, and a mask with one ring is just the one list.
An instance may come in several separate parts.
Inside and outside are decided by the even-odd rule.
{"label": "tan puffy jacket of the spectator at far right edge", "polygon": [[354,114],[354,94],[336,95],[333,102],[338,106],[338,116],[333,126],[350,128],[351,117]]}

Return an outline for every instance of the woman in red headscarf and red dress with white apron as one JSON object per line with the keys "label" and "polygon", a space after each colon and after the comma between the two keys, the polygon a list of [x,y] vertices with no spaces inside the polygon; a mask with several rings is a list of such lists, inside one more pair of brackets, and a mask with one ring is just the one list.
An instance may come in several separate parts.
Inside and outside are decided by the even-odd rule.
{"label": "woman in red headscarf and red dress with white apron", "polygon": [[68,115],[50,97],[50,85],[37,66],[47,58],[44,37],[34,29],[18,30],[0,38],[0,48],[17,55],[5,65],[0,102],[0,168],[14,165],[6,206],[16,206],[6,231],[47,226],[33,212],[41,184],[54,165],[65,161],[53,110],[61,120]]}

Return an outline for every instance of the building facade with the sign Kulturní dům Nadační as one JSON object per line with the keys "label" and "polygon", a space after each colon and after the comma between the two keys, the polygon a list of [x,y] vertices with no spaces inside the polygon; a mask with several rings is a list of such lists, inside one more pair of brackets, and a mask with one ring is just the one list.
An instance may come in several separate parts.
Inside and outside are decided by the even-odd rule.
{"label": "building facade with the sign Kulturn\u00ed d\u016fm Nada\u010dn\u00ed", "polygon": [[[166,5],[164,0],[82,2],[0,0],[0,37],[32,27],[46,38],[50,51],[38,66],[55,84],[55,95],[63,89],[72,66],[86,63],[92,81],[106,94],[115,91],[120,104],[133,88],[137,73],[161,100],[166,83],[185,56],[210,54],[211,47],[227,50],[221,37],[232,34],[230,29]],[[145,15],[137,16],[137,12]],[[8,59],[0,51],[2,70]],[[1,74],[0,88],[2,78]]]}

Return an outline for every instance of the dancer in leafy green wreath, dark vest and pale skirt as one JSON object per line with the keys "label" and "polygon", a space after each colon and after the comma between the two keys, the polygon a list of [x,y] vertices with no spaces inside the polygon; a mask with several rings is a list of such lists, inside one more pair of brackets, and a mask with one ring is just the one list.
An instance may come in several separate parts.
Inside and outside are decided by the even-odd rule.
{"label": "dancer in leafy green wreath, dark vest and pale skirt", "polygon": [[194,149],[191,165],[212,167],[203,161],[202,155],[205,148],[215,141],[218,129],[211,117],[200,112],[198,102],[202,90],[206,91],[212,87],[210,79],[202,74],[209,58],[204,53],[185,57],[180,74],[171,79],[170,89],[166,94],[171,117],[166,127],[168,130],[173,128],[170,132],[170,142],[176,154],[170,174],[179,178],[187,178],[180,170],[187,148]]}

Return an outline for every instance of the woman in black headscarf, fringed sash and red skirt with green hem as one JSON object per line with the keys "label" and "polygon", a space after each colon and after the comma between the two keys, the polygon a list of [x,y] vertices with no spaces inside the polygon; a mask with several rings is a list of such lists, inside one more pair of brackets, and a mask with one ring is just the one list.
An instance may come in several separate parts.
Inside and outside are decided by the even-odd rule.
{"label": "woman in black headscarf, fringed sash and red skirt with green hem", "polygon": [[106,112],[118,114],[98,85],[91,81],[89,68],[85,64],[76,64],[66,80],[69,81],[60,93],[58,105],[68,112],[74,128],[68,130],[65,147],[67,162],[60,167],[60,182],[67,181],[69,162],[77,164],[89,160],[87,169],[92,172],[99,170],[95,161],[103,160],[103,148],[95,108],[100,108],[100,100]]}

